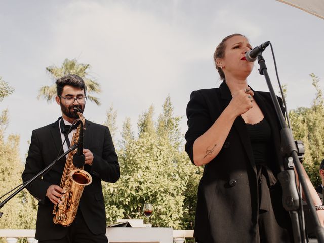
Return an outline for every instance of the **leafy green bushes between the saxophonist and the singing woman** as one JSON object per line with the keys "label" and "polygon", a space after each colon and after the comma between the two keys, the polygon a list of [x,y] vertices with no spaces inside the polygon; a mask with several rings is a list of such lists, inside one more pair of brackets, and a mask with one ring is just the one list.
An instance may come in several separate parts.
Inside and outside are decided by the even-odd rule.
{"label": "leafy green bushes between the saxophonist and the singing woman", "polygon": [[156,124],[153,114],[150,106],[139,117],[137,137],[130,119],[123,124],[117,151],[121,177],[115,184],[104,184],[107,223],[145,218],[143,205],[152,203],[153,226],[191,229],[200,171],[183,151],[181,117],[173,116],[170,97]]}

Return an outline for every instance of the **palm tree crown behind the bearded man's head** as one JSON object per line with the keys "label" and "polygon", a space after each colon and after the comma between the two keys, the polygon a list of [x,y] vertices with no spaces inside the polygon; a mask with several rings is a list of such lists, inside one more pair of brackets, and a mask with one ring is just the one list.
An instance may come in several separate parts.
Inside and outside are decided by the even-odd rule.
{"label": "palm tree crown behind the bearded man's head", "polygon": [[[52,76],[53,80],[61,78],[67,74],[76,74],[82,77],[87,87],[88,99],[95,102],[97,105],[100,105],[99,99],[90,95],[91,93],[100,93],[101,88],[99,83],[90,78],[87,78],[87,69],[89,67],[90,64],[78,63],[76,59],[65,59],[61,67],[49,66],[46,68],[46,71]],[[51,102],[55,99],[56,94],[56,85],[54,83],[51,86],[45,85],[41,89],[39,89],[37,98],[44,98],[47,100],[47,102]]]}

